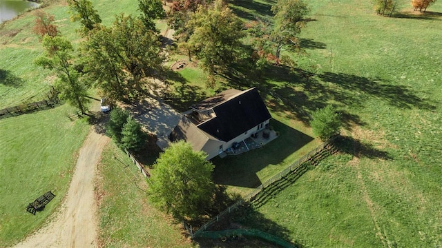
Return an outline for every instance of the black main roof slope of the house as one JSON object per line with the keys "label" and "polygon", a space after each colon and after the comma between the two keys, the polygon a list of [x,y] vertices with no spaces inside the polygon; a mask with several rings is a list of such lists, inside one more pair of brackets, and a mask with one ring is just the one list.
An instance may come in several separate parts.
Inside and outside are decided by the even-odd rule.
{"label": "black main roof slope of the house", "polygon": [[213,112],[216,117],[201,123],[198,128],[225,142],[271,118],[269,110],[254,87],[216,105]]}

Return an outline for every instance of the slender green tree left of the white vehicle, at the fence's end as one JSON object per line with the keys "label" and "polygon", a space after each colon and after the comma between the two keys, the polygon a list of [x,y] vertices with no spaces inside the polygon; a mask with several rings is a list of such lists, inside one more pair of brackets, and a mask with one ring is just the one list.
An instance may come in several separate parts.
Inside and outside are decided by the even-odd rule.
{"label": "slender green tree left of the white vehicle, at the fence's end", "polygon": [[64,37],[45,35],[43,47],[45,52],[35,59],[35,63],[43,68],[55,70],[58,76],[55,88],[60,92],[60,99],[79,108],[81,114],[86,114],[86,104],[89,102],[86,94],[89,85],[81,81],[79,73],[73,69],[72,44]]}

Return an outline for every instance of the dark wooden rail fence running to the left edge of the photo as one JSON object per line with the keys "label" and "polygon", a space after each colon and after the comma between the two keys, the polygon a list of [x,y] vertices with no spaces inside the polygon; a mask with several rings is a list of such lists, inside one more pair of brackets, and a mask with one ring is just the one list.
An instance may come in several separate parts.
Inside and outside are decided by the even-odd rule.
{"label": "dark wooden rail fence running to the left edge of the photo", "polygon": [[46,94],[46,96],[48,96],[48,100],[33,103],[23,103],[14,107],[7,107],[0,110],[0,118],[9,118],[12,116],[19,116],[21,114],[32,113],[38,110],[44,110],[48,107],[55,107],[55,105],[59,104],[60,102],[58,94],[59,92],[52,87],[48,94]]}

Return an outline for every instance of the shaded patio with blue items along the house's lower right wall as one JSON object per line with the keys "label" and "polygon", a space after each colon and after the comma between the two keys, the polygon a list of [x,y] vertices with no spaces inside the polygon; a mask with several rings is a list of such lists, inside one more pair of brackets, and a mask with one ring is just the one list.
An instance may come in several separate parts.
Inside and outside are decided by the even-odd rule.
{"label": "shaded patio with blue items along the house's lower right wall", "polygon": [[249,138],[244,139],[244,141],[238,142],[238,147],[235,149],[233,147],[227,148],[222,154],[220,154],[220,157],[224,158],[227,155],[239,155],[244,152],[249,152],[252,149],[260,148],[263,145],[266,145],[277,137],[278,134],[275,130],[265,128]]}

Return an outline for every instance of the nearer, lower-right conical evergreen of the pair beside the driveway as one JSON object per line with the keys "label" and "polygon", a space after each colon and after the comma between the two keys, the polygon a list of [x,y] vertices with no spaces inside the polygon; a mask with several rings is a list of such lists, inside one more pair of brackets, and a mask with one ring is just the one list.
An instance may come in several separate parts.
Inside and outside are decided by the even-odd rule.
{"label": "nearer, lower-right conical evergreen of the pair beside the driveway", "polygon": [[146,145],[146,141],[147,134],[141,129],[140,123],[129,116],[123,125],[121,147],[129,152],[137,152]]}

